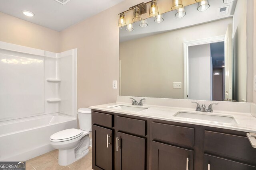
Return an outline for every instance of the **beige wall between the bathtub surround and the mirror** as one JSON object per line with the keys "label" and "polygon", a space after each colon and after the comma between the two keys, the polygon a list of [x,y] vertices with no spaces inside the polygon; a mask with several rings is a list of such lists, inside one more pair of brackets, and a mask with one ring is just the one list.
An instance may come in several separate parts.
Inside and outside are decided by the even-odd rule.
{"label": "beige wall between the bathtub surround and the mirror", "polygon": [[[118,89],[118,13],[139,0],[124,1],[60,33],[61,51],[78,48],[78,108],[116,101]],[[138,4],[138,3],[137,3]]]}

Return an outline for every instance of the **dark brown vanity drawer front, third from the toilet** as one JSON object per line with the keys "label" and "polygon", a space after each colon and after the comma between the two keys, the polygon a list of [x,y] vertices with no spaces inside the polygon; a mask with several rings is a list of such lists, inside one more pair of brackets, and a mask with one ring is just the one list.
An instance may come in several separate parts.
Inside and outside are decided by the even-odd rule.
{"label": "dark brown vanity drawer front, third from the toilet", "polygon": [[153,122],[152,138],[176,145],[194,147],[194,128]]}

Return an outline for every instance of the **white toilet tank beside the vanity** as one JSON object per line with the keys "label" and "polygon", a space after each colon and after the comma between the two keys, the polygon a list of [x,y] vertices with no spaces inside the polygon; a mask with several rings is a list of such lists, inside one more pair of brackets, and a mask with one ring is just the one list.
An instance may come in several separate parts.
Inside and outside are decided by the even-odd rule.
{"label": "white toilet tank beside the vanity", "polygon": [[79,127],[83,131],[92,131],[92,110],[80,108],[77,111]]}

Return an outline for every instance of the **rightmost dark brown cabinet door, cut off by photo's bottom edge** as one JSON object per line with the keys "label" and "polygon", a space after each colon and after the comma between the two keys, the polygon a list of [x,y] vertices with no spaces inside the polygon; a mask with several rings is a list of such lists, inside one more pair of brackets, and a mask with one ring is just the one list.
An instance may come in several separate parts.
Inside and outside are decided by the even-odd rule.
{"label": "rightmost dark brown cabinet door, cut off by photo's bottom edge", "polygon": [[256,170],[256,167],[204,154],[204,170]]}

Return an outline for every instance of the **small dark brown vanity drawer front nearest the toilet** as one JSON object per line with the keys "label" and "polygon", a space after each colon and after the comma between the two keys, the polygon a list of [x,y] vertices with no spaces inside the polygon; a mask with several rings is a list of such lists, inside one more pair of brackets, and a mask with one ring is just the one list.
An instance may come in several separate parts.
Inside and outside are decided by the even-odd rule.
{"label": "small dark brown vanity drawer front nearest the toilet", "polygon": [[114,115],[111,114],[92,111],[92,124],[102,125],[105,127],[114,127],[113,116]]}

